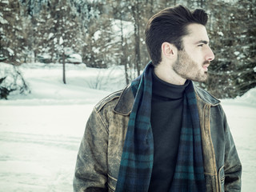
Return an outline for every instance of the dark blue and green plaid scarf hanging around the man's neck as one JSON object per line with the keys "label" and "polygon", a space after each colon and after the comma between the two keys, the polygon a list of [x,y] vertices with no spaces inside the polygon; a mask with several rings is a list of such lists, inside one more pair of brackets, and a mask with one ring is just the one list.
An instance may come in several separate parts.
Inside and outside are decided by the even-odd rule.
{"label": "dark blue and green plaid scarf hanging around the man's neck", "polygon": [[[134,106],[122,150],[117,192],[148,191],[154,160],[150,125],[152,70],[149,63],[133,82]],[[178,159],[170,191],[206,191],[202,162],[201,131],[193,83],[186,87]]]}

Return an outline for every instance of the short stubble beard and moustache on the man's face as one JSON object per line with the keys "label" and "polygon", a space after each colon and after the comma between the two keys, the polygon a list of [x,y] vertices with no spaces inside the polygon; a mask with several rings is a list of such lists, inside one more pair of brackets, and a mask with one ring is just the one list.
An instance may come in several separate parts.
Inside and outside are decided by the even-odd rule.
{"label": "short stubble beard and moustache on the man's face", "polygon": [[[209,61],[203,62],[203,65],[210,64]],[[182,78],[192,80],[194,82],[206,82],[208,78],[207,71],[202,73],[202,66],[198,66],[197,62],[194,62],[185,50],[178,51],[177,61],[174,63],[173,70],[176,74]]]}

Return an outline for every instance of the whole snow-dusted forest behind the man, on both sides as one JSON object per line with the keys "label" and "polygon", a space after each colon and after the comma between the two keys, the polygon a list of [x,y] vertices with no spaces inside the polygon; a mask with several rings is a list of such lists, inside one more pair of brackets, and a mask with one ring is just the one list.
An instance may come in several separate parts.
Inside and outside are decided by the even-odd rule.
{"label": "whole snow-dusted forest behind the man, on both sides", "polygon": [[[1,0],[0,62],[65,66],[70,55],[79,55],[76,64],[124,66],[128,84],[150,61],[146,22],[159,10],[178,4],[209,14],[206,28],[215,60],[208,81],[198,85],[218,98],[235,98],[254,88],[255,0]],[[1,85],[5,78],[0,77],[2,98],[12,91]],[[22,81],[21,92],[27,89]]]}

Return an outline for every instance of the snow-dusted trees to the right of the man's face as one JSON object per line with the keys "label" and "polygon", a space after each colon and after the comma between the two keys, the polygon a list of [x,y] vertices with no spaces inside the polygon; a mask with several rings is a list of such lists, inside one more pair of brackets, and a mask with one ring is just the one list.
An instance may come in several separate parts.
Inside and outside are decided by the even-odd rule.
{"label": "snow-dusted trees to the right of the man's face", "polygon": [[215,60],[209,82],[201,86],[218,98],[234,98],[256,86],[255,8],[246,1],[234,5],[212,2],[208,8]]}

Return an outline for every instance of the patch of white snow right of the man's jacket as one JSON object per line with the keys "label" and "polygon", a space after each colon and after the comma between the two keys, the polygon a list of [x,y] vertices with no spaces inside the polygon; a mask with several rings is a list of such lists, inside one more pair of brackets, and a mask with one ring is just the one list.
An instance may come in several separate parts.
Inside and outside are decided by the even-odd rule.
{"label": "patch of white snow right of the man's jacket", "polygon": [[[256,92],[254,88],[254,93]],[[237,100],[224,101],[223,109],[234,137],[240,160],[242,162],[242,191],[254,191],[256,171],[256,94],[251,94],[254,103]],[[243,98],[241,99],[243,100]]]}

